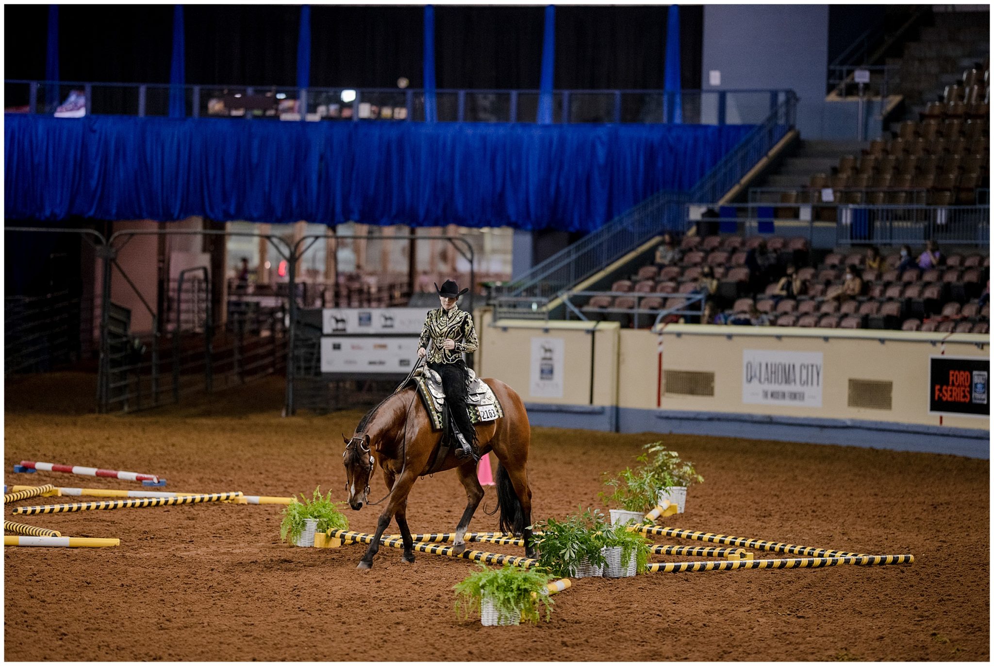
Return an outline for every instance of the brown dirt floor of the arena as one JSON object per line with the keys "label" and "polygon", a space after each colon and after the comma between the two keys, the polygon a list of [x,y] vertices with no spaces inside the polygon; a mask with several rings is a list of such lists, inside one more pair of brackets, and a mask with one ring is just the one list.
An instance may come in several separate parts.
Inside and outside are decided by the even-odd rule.
{"label": "brown dirt floor of the arena", "polygon": [[[91,377],[6,385],[4,483],[136,488],[12,473],[22,459],[159,474],[166,490],[341,493],[342,432],[361,413],[281,418],[281,378],[198,406],[86,413]],[[660,436],[534,428],[535,518],[602,506],[600,473]],[[458,620],[452,585],[474,564],[363,547],[291,548],[278,506],[198,505],[30,517],[113,549],[5,549],[8,660],[966,660],[989,652],[989,468],[953,456],[662,436],[705,483],[671,527],[866,554],[904,566],[582,578],[538,626]],[[842,442],[840,442],[842,443]],[[384,492],[378,477],[373,493]],[[494,504],[493,489],[487,502]],[[44,502],[72,499],[46,498]],[[22,502],[30,504],[34,501]],[[414,532],[450,532],[465,496],[451,473],[414,486]],[[39,503],[39,502],[36,502]],[[372,532],[376,510],[346,508]],[[9,512],[8,512],[9,513]],[[471,529],[496,530],[478,511]],[[679,543],[657,540],[657,543]],[[693,542],[683,542],[693,544]],[[520,554],[512,547],[495,551]],[[757,555],[769,557],[773,555]],[[663,561],[653,556],[654,561]],[[685,559],[666,557],[666,560]]]}

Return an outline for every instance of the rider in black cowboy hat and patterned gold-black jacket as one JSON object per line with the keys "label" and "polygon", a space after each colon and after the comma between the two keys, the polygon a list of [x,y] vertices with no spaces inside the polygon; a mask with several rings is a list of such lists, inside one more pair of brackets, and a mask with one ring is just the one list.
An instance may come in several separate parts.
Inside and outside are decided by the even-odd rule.
{"label": "rider in black cowboy hat and patterned gold-black jacket", "polygon": [[[458,285],[446,280],[441,289],[435,284],[435,291],[438,292],[441,308],[428,311],[417,342],[417,355],[420,358],[426,356],[428,367],[441,377],[445,404],[452,422],[452,434],[459,444],[459,448],[455,450],[456,457],[479,460],[476,429],[469,418],[466,405],[469,371],[462,359],[463,352],[476,350],[476,329],[473,327],[472,315],[459,310],[455,305],[456,300],[469,289],[460,292]],[[434,342],[430,351],[427,349],[428,342]]]}

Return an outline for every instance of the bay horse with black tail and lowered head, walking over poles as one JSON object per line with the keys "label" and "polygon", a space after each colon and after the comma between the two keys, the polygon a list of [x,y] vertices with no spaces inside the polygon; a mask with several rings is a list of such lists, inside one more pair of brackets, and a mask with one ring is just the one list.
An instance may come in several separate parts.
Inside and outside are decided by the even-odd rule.
{"label": "bay horse with black tail and lowered head, walking over poles", "polygon": [[[517,392],[499,379],[483,381],[493,389],[500,401],[504,416],[475,425],[480,455],[493,451],[497,456],[497,503],[500,510],[500,529],[521,535],[525,540],[526,555],[534,556],[532,547],[532,491],[528,486],[528,448],[531,427],[525,405]],[[414,561],[414,541],[408,527],[408,495],[417,477],[428,472],[429,461],[441,439],[441,432],[432,432],[428,413],[417,396],[414,386],[403,388],[371,409],[359,422],[351,439],[345,441],[342,453],[345,464],[346,491],[349,506],[359,511],[369,504],[370,479],[379,466],[390,495],[386,508],[380,514],[376,537],[358,568],[373,566],[373,557],[380,550],[380,538],[397,519],[404,540],[402,560]],[[456,458],[455,447],[448,451],[438,472],[454,469],[466,489],[466,510],[455,529],[453,547],[456,553],[466,550],[463,536],[476,507],[483,499],[483,488],[476,478],[476,463],[471,457]],[[380,502],[383,502],[381,500]],[[377,503],[379,504],[379,503]]]}

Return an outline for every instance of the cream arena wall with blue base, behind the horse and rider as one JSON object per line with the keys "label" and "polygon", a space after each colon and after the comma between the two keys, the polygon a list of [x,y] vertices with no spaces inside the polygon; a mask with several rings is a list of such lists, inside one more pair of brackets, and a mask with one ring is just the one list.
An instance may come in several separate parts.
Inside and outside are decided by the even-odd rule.
{"label": "cream arena wall with blue base, behind the horse and rider", "polygon": [[[989,360],[986,335],[698,325],[657,334],[608,322],[493,325],[487,309],[477,323],[477,372],[518,390],[533,425],[989,457],[989,417],[932,414],[928,404],[929,357]],[[534,390],[534,339],[562,340],[561,365],[545,361],[561,395]],[[746,356],[817,359],[820,404],[746,402]]]}

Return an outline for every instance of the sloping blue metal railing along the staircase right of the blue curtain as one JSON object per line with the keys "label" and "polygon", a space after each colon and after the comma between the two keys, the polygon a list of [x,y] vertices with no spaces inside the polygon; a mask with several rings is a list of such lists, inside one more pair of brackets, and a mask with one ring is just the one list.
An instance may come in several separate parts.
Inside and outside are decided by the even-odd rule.
{"label": "sloping blue metal railing along the staircase right of the blue curtain", "polygon": [[[690,193],[653,194],[597,231],[533,267],[525,276],[497,292],[495,319],[516,317],[521,310],[548,305],[557,294],[603,269],[638,245],[666,230],[683,227],[687,201],[716,201],[794,125],[797,97],[792,91],[777,98],[766,119],[745,138]],[[543,306],[544,307],[544,306]]]}

